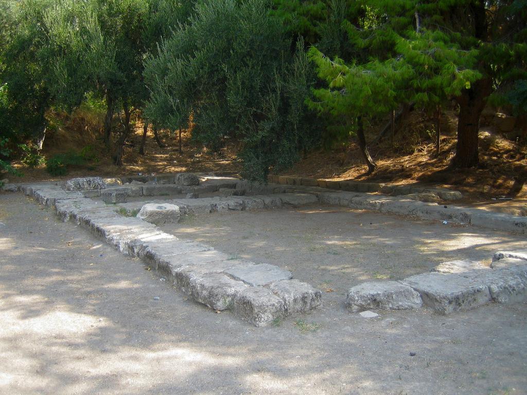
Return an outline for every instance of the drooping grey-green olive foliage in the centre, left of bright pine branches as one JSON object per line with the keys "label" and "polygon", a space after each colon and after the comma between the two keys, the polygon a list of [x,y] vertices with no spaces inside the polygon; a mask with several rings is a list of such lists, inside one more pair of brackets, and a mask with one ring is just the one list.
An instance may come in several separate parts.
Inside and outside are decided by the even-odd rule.
{"label": "drooping grey-green olive foliage in the centre, left of bright pine branches", "polygon": [[320,123],[304,104],[316,76],[263,0],[203,1],[145,66],[145,112],[167,129],[185,127],[212,150],[241,143],[243,176],[265,180],[317,142]]}

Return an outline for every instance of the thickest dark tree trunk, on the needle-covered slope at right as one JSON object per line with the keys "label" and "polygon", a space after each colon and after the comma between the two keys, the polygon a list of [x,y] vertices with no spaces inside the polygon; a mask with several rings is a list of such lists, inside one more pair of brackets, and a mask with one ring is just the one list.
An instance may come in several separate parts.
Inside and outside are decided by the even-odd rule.
{"label": "thickest dark tree trunk, on the needle-covered slope at right", "polygon": [[491,80],[485,78],[476,81],[457,97],[460,115],[457,121],[456,154],[452,159],[454,167],[473,167],[480,161],[477,133],[480,130],[481,112],[490,93]]}

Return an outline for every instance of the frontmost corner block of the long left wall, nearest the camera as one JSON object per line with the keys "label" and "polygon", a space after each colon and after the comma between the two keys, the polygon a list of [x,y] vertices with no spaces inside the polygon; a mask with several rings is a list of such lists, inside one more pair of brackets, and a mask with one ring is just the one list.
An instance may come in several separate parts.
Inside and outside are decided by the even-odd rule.
{"label": "frontmost corner block of the long left wall, nearest the camera", "polygon": [[284,317],[284,302],[267,288],[248,287],[238,293],[232,311],[256,327],[262,327]]}

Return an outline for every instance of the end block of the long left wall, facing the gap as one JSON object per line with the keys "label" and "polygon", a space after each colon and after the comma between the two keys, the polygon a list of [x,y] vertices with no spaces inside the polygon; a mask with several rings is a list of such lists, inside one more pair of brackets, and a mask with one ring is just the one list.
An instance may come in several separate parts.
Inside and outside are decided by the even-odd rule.
{"label": "end block of the long left wall, facing the gap", "polygon": [[269,289],[284,302],[286,315],[307,313],[322,305],[322,293],[310,284],[298,280],[271,283]]}

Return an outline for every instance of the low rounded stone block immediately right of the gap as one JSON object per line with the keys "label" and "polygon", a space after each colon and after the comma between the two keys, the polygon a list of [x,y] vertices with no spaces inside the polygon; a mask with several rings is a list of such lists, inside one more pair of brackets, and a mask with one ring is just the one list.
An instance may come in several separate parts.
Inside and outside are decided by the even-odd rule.
{"label": "low rounded stone block immediately right of the gap", "polygon": [[422,304],[418,292],[396,281],[370,281],[356,285],[349,289],[346,298],[346,305],[353,312],[418,309]]}

